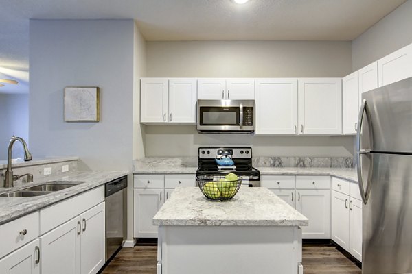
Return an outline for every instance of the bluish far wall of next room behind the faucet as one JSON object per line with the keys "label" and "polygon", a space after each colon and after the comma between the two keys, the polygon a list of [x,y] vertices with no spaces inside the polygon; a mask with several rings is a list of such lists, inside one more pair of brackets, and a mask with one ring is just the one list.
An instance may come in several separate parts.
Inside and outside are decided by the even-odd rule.
{"label": "bluish far wall of next room behind the faucet", "polygon": [[[19,136],[29,145],[29,95],[0,94],[0,160],[8,158],[10,137]],[[23,158],[23,147],[14,143],[13,158]]]}

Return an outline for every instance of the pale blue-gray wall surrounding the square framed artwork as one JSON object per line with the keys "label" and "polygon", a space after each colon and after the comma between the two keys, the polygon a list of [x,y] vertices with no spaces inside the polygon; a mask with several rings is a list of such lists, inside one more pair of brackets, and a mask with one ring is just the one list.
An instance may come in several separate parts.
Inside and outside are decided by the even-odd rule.
{"label": "pale blue-gray wall surrounding the square framed artwork", "polygon": [[[30,148],[79,169],[131,170],[132,20],[30,21]],[[100,122],[63,121],[65,86],[100,87]]]}

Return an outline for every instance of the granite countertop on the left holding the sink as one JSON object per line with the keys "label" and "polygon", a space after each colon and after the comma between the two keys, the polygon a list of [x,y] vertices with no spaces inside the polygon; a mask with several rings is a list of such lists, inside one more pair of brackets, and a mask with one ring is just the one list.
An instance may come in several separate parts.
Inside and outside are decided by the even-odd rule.
{"label": "granite countertop on the left holding the sink", "polygon": [[[84,191],[101,186],[113,179],[128,175],[126,171],[78,171],[65,175],[56,175],[45,177],[34,183],[24,184],[15,188],[0,188],[0,194],[10,190],[19,190],[45,182],[62,180],[62,181],[84,181],[82,184],[52,192],[46,195],[35,197],[0,197],[0,225],[12,221],[20,216],[34,212],[53,203],[57,203],[69,197],[78,195]],[[130,184],[130,182],[129,182]]]}

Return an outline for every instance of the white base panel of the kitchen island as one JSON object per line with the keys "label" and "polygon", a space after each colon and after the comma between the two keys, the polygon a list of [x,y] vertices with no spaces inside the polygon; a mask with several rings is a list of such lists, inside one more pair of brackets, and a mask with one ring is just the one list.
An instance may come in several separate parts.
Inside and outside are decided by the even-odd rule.
{"label": "white base panel of the kitchen island", "polygon": [[299,227],[160,226],[157,274],[302,274]]}

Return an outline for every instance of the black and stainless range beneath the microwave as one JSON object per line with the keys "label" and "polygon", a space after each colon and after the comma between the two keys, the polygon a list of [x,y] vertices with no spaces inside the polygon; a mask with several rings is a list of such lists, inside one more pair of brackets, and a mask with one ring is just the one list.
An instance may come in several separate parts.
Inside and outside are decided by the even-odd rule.
{"label": "black and stainless range beneath the microwave", "polygon": [[[218,166],[216,159],[229,157],[232,166]],[[260,186],[260,171],[252,166],[251,147],[199,147],[196,176],[235,173],[242,177],[242,184]]]}

